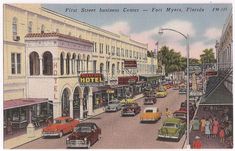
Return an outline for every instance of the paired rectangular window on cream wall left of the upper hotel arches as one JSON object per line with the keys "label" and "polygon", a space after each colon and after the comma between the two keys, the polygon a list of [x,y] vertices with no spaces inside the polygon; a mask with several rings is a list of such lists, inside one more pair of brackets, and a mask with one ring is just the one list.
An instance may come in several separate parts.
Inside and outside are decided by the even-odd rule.
{"label": "paired rectangular window on cream wall left of the upper hotel arches", "polygon": [[11,74],[21,73],[21,54],[11,53]]}

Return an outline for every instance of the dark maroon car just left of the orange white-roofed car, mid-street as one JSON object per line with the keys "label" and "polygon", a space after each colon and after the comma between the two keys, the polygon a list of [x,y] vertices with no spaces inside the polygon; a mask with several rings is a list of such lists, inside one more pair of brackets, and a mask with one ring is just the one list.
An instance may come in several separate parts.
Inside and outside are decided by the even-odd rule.
{"label": "dark maroon car just left of the orange white-roofed car, mid-street", "polygon": [[137,103],[128,103],[124,105],[121,111],[121,116],[135,116],[140,113],[140,106]]}

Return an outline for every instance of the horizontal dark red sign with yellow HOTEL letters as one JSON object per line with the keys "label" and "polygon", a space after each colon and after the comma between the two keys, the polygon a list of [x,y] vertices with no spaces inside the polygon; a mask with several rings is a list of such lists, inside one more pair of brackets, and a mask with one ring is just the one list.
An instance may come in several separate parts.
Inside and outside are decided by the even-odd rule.
{"label": "horizontal dark red sign with yellow HOTEL letters", "polygon": [[83,86],[101,86],[104,84],[104,76],[101,73],[82,73],[79,82]]}

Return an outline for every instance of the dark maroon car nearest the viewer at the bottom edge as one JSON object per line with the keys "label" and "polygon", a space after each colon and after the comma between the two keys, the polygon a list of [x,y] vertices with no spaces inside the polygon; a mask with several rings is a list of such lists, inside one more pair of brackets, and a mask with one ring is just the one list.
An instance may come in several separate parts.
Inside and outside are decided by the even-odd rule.
{"label": "dark maroon car nearest the viewer at the bottom edge", "polygon": [[67,148],[90,148],[101,137],[101,129],[91,122],[78,124],[66,139]]}

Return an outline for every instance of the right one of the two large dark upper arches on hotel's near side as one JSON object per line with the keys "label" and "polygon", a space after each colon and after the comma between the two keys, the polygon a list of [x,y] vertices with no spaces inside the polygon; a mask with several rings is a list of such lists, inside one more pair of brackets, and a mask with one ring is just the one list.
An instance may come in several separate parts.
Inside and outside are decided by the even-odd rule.
{"label": "right one of the two large dark upper arches on hotel's near side", "polygon": [[52,75],[53,60],[52,54],[47,51],[43,54],[43,75]]}

